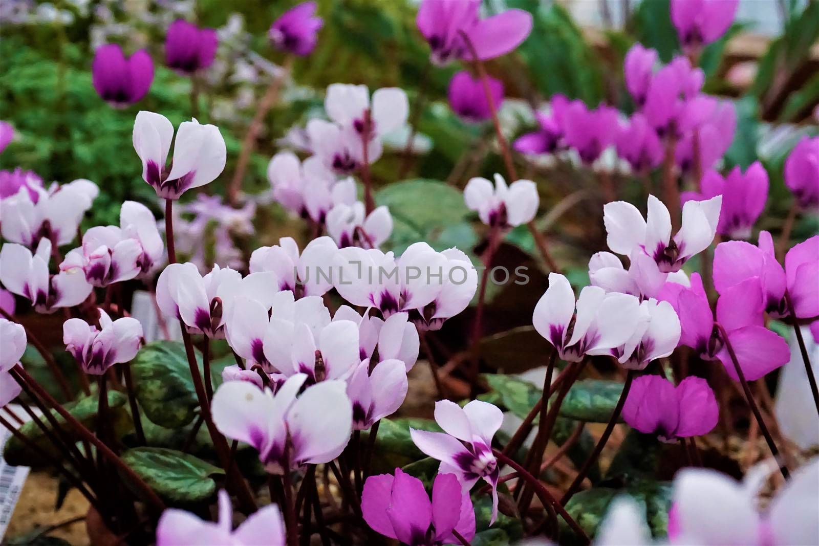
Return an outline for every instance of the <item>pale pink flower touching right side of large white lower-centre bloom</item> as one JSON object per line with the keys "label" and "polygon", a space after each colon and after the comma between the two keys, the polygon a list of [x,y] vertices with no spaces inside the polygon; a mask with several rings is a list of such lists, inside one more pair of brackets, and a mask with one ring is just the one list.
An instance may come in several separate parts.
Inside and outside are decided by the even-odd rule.
{"label": "pale pink flower touching right side of large white lower-centre bloom", "polygon": [[369,371],[362,361],[347,379],[347,396],[353,404],[353,430],[365,431],[382,417],[395,413],[407,395],[407,370],[400,360],[382,360]]}

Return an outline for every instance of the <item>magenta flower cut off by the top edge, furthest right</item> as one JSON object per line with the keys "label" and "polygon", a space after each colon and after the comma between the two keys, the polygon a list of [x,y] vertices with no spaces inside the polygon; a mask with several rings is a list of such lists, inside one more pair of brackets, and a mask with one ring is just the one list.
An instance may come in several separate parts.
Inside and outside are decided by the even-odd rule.
{"label": "magenta flower cut off by the top edge, furthest right", "polygon": [[698,48],[725,34],[739,0],[671,0],[671,20],[682,47]]}

